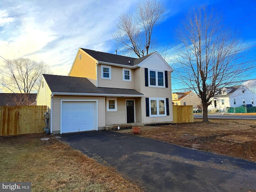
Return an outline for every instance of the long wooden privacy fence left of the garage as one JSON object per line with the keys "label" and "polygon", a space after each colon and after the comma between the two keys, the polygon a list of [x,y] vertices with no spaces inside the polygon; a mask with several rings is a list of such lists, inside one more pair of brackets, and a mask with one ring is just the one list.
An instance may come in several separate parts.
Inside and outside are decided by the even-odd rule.
{"label": "long wooden privacy fence left of the garage", "polygon": [[1,106],[0,136],[42,133],[47,106]]}

